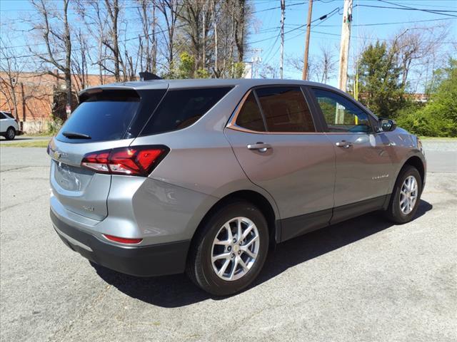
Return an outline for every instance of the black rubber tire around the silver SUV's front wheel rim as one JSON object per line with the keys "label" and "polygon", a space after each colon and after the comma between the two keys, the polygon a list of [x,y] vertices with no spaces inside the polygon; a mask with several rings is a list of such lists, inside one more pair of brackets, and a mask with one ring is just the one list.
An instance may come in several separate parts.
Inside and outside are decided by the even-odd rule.
{"label": "black rubber tire around the silver SUV's front wheel rim", "polygon": [[[406,180],[407,177],[413,176],[416,178],[417,186],[418,186],[418,195],[416,202],[414,203],[413,209],[408,214],[404,214],[400,208],[400,194],[401,194],[401,187],[403,186],[403,182]],[[388,205],[386,210],[386,217],[391,220],[392,222],[403,224],[406,222],[410,222],[413,217],[416,215],[417,208],[419,206],[419,202],[421,200],[422,195],[422,178],[421,174],[418,172],[416,167],[411,165],[405,165],[403,169],[401,169],[400,174],[397,177],[395,182],[395,186],[393,187],[393,192],[391,195],[391,202]]]}

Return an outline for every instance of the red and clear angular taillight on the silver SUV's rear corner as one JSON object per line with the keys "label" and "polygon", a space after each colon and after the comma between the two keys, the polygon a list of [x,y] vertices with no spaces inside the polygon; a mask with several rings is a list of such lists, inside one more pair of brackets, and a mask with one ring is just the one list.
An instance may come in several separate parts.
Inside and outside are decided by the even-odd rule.
{"label": "red and clear angular taillight on the silver SUV's rear corner", "polygon": [[119,147],[87,153],[81,166],[99,173],[147,177],[168,152],[166,146]]}

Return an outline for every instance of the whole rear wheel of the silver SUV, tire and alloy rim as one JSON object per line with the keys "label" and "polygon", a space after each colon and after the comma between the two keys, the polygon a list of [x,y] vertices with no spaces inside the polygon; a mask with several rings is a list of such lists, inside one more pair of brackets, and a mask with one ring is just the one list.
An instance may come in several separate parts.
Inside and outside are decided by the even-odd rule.
{"label": "whole rear wheel of the silver SUV, tire and alloy rim", "polygon": [[249,202],[233,202],[203,223],[186,273],[210,294],[234,294],[256,279],[267,252],[268,227],[261,211]]}

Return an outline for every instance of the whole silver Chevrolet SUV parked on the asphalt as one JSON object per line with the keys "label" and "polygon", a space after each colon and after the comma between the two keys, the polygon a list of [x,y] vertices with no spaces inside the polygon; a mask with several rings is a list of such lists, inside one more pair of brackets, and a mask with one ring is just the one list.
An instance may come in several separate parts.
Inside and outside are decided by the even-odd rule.
{"label": "whole silver Chevrolet SUV parked on the asphalt", "polygon": [[89,88],[49,143],[51,219],[64,243],[136,276],[186,271],[228,295],[269,247],[383,210],[413,219],[421,142],[346,93],[282,80]]}

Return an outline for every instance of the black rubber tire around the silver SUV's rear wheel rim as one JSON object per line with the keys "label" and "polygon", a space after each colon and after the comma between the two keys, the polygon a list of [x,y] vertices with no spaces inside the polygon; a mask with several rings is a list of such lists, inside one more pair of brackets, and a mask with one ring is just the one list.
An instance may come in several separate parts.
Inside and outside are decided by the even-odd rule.
{"label": "black rubber tire around the silver SUV's rear wheel rim", "polygon": [[[248,269],[240,279],[226,281],[214,271],[211,255],[213,254],[213,242],[219,229],[235,217],[250,219],[257,227],[260,242],[257,257],[251,269]],[[268,254],[268,239],[266,219],[257,207],[242,200],[225,204],[202,222],[189,251],[186,274],[197,286],[209,294],[216,296],[235,294],[245,289],[258,276]]]}

